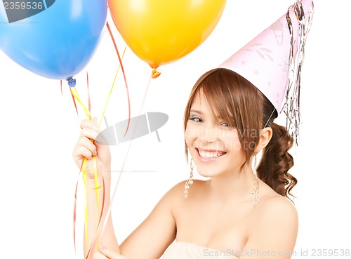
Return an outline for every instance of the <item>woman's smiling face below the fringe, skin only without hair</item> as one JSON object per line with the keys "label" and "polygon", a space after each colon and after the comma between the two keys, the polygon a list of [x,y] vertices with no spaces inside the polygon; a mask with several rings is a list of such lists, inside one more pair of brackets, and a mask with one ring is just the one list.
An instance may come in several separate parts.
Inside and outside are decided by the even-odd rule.
{"label": "woman's smiling face below the fringe, skin only without hair", "polygon": [[201,91],[195,95],[190,107],[185,142],[202,176],[232,173],[245,164],[246,154],[237,128],[211,109]]}

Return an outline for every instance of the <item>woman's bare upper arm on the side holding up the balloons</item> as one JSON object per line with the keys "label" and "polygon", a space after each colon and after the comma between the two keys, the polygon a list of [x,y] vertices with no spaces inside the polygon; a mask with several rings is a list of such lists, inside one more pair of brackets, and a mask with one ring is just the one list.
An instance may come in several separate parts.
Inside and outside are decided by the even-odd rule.
{"label": "woman's bare upper arm on the side holding up the balloons", "polygon": [[150,215],[121,244],[121,255],[127,259],[155,259],[164,253],[176,238],[172,206],[181,192],[178,184],[161,198]]}

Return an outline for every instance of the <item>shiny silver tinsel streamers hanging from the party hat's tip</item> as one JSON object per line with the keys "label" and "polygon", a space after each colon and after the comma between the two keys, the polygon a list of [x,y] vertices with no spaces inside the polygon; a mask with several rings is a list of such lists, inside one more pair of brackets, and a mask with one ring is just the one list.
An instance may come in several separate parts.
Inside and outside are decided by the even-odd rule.
{"label": "shiny silver tinsel streamers hanging from the party hat's tip", "polygon": [[[298,35],[293,33],[293,22],[291,22],[290,11],[293,11],[298,20]],[[305,43],[307,34],[310,32],[312,18],[314,13],[314,4],[311,2],[310,10],[305,15],[302,0],[296,1],[293,6],[289,7],[286,13],[289,32],[291,35],[290,54],[289,54],[289,80],[286,91],[286,102],[284,103],[284,113],[286,114],[286,128],[296,140],[298,145],[298,135],[300,126],[300,79],[301,67],[305,57]]]}

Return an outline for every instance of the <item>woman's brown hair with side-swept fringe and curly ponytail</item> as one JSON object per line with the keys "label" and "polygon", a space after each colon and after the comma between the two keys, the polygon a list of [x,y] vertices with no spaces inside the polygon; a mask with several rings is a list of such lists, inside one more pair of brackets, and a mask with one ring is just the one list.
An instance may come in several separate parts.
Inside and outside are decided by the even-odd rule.
{"label": "woman's brown hair with side-swept fringe and curly ponytail", "polygon": [[[260,130],[272,127],[272,139],[263,150],[257,168],[258,177],[284,197],[292,196],[291,189],[297,180],[290,173],[293,157],[288,150],[293,138],[282,126],[273,123],[278,116],[272,103],[249,81],[230,69],[217,68],[203,74],[192,88],[184,114],[184,130],[190,108],[197,93],[204,94],[212,112],[218,113],[230,126],[237,128],[241,147],[249,163],[260,140]],[[187,156],[187,144],[185,143]]]}

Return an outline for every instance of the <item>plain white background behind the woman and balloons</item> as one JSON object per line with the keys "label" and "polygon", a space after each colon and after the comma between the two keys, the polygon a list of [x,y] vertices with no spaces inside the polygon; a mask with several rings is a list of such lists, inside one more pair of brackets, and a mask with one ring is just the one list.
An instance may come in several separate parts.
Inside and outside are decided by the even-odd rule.
{"label": "plain white background behind the woman and balloons", "polygon": [[[291,4],[291,0],[228,0],[218,26],[204,44],[161,67],[162,74],[151,81],[143,107],[151,69],[127,48],[124,66],[131,116],[164,112],[169,120],[159,129],[161,142],[152,133],[112,147],[112,189],[126,161],[112,208],[119,241],[150,213],[166,190],[188,176],[182,119],[194,82],[280,18]],[[314,5],[302,75],[300,145],[292,150],[296,165],[291,173],[298,178],[293,193],[298,197],[295,203],[300,218],[293,258],[306,258],[301,251],[312,255],[318,248],[351,249],[347,127],[351,4],[347,0],[316,0]],[[114,26],[112,20],[110,25]],[[125,44],[115,29],[114,36],[122,52]],[[117,65],[106,30],[87,67],[92,112],[99,119]],[[76,79],[77,90],[87,104],[85,73]],[[107,107],[110,125],[128,118],[121,73],[118,78]],[[63,95],[60,81],[32,74],[0,53],[1,258],[76,258],[72,215],[79,169],[72,160],[72,149],[85,114],[80,109],[77,116],[65,82],[62,90]],[[83,194],[80,188],[78,197]]]}

